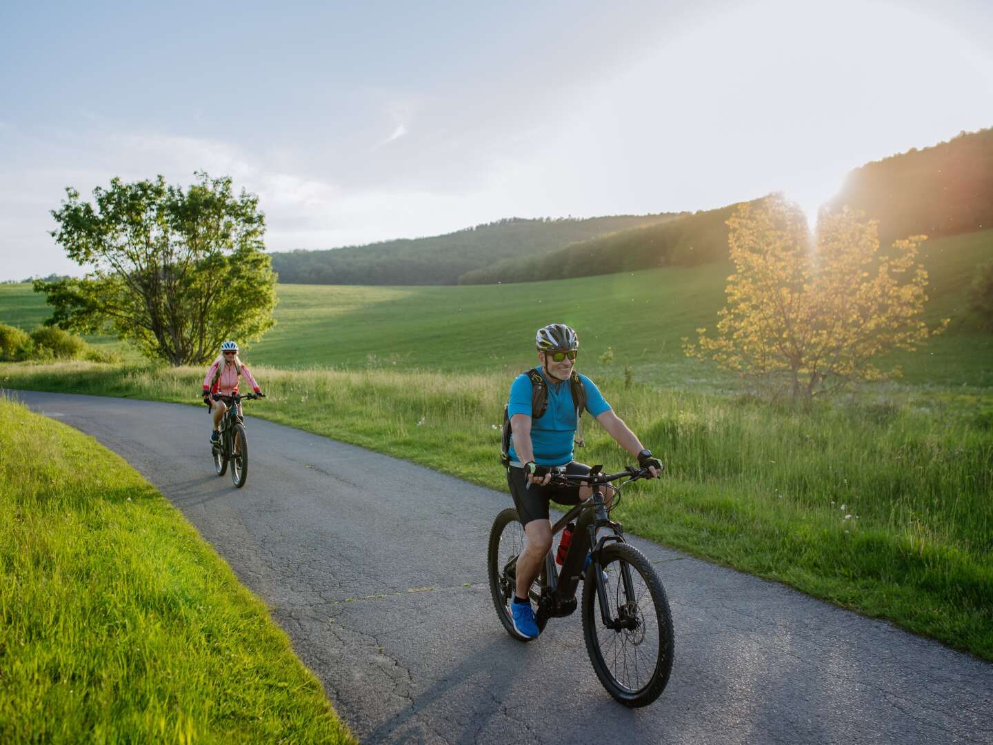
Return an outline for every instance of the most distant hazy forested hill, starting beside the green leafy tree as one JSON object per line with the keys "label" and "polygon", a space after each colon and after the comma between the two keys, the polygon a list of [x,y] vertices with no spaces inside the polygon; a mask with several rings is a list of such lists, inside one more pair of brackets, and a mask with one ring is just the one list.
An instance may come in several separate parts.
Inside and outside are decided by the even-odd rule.
{"label": "most distant hazy forested hill, starting beside the green leafy tree", "polygon": [[283,283],[456,284],[466,272],[500,259],[529,257],[594,235],[677,217],[663,213],[583,220],[509,218],[433,237],[272,253],[272,268]]}

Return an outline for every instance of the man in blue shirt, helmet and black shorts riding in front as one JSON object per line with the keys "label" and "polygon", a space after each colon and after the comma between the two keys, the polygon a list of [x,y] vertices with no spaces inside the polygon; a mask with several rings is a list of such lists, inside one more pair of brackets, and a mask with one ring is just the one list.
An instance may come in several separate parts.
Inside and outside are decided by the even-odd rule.
{"label": "man in blue shirt, helmet and black shorts riding in front", "polygon": [[[534,341],[539,371],[548,391],[545,411],[540,417],[532,419],[532,382],[527,373],[521,373],[514,379],[507,403],[511,445],[506,481],[527,536],[527,545],[517,557],[516,597],[510,603],[510,616],[517,633],[526,639],[538,636],[528,588],[538,576],[541,562],[552,545],[549,500],[560,505],[577,505],[593,494],[587,486],[548,485],[551,469],[556,466],[565,466],[569,474],[590,472],[589,466],[572,459],[579,412],[573,400],[570,379],[579,350],[579,337],[565,324],[549,324],[538,329]],[[651,456],[651,451],[642,447],[635,433],[614,413],[593,380],[582,374],[578,374],[578,378],[586,393],[586,410],[618,444],[638,458],[641,468],[647,468],[651,476],[657,478],[662,464]],[[608,486],[607,490],[612,488]],[[609,497],[610,491],[605,496]]]}

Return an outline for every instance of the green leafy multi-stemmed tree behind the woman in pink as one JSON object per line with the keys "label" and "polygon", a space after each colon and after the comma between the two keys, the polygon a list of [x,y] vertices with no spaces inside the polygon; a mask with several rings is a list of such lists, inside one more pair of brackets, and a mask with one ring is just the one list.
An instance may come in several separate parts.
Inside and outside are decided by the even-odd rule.
{"label": "green leafy multi-stemmed tree behind the woman in pink", "polygon": [[224,339],[258,339],[273,325],[276,277],[262,252],[258,198],[228,177],[198,173],[186,192],[155,181],[67,189],[52,235],[82,279],[37,280],[56,311],[47,325],[109,330],[151,359],[204,363]]}

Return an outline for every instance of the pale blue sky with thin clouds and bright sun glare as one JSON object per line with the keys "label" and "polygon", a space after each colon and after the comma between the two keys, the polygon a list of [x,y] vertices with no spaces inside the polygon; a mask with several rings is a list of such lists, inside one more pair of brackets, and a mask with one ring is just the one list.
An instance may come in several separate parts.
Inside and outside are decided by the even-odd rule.
{"label": "pale blue sky with thin clouds and bright sun glare", "polygon": [[852,168],[993,126],[993,3],[0,5],[0,280],[79,275],[83,197],[229,175],[268,250],[502,218],[808,214]]}

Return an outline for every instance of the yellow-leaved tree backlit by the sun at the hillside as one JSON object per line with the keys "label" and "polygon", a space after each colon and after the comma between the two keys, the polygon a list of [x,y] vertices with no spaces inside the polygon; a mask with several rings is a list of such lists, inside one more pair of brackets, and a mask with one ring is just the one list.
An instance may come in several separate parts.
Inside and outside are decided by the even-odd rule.
{"label": "yellow-leaved tree backlit by the sun at the hillside", "polygon": [[690,357],[808,404],[855,380],[899,375],[874,360],[914,350],[947,325],[928,330],[919,318],[927,273],[915,259],[924,235],[881,253],[876,222],[842,209],[821,215],[814,246],[803,214],[780,195],[741,205],[728,225],[728,305],[716,337],[698,329],[698,346],[683,340]]}

